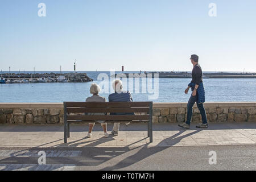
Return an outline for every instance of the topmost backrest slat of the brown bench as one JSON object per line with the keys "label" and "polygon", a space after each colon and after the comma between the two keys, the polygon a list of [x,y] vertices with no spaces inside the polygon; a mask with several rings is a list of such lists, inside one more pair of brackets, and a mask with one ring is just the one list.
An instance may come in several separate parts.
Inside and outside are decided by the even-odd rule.
{"label": "topmost backrest slat of the brown bench", "polygon": [[65,102],[67,107],[149,107],[151,102]]}

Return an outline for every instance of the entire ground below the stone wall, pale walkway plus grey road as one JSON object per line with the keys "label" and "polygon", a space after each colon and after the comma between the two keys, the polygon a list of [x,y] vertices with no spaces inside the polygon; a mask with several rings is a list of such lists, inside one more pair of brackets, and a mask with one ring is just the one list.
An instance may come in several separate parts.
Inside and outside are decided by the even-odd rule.
{"label": "entire ground below the stone wall, pale walkway plus grey road", "polygon": [[[111,131],[112,124],[108,125]],[[154,123],[149,143],[146,123],[120,127],[104,138],[101,126],[86,138],[88,125],[71,125],[63,143],[61,125],[0,125],[1,170],[256,170],[255,123],[210,123],[209,129],[185,130]],[[39,151],[46,164],[39,165]],[[209,164],[215,151],[217,163]]]}

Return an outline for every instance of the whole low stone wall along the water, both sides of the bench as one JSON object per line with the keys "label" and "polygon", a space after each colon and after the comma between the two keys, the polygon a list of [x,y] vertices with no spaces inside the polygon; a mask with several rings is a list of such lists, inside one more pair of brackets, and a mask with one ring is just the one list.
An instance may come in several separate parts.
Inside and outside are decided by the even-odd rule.
{"label": "whole low stone wall along the water, both sides of the bench", "polygon": [[[154,123],[184,122],[187,104],[154,103]],[[256,102],[206,103],[209,122],[256,122]],[[196,105],[193,107],[192,122],[201,122]],[[47,124],[63,123],[63,104],[0,104],[0,123]]]}

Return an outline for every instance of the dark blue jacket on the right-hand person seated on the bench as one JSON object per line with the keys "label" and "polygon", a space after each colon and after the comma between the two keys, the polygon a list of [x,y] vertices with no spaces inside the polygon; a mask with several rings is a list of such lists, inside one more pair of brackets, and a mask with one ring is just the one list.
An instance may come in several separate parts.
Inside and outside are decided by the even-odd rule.
{"label": "dark blue jacket on the right-hand person seated on the bench", "polygon": [[[109,95],[109,102],[133,102],[131,93],[129,91],[122,91],[121,93],[112,93]],[[110,113],[111,115],[134,115],[134,113]]]}

